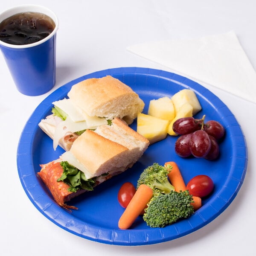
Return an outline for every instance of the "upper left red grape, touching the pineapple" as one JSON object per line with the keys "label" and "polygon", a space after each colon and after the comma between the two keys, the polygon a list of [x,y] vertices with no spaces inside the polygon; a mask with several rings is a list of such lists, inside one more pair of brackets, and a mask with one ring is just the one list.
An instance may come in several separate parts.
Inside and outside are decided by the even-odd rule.
{"label": "upper left red grape, touching the pineapple", "polygon": [[199,121],[196,121],[194,117],[183,117],[177,119],[173,123],[172,129],[176,134],[189,134],[192,133],[193,131],[201,129],[201,124],[199,123]]}

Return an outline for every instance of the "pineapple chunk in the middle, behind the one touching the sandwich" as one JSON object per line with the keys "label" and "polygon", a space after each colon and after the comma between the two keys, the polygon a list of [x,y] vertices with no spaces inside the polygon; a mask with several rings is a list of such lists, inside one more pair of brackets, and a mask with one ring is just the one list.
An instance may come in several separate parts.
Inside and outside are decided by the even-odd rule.
{"label": "pineapple chunk in the middle, behind the one touching the sandwich", "polygon": [[175,110],[172,100],[167,96],[159,99],[152,99],[149,102],[148,115],[172,121],[172,119],[175,118]]}

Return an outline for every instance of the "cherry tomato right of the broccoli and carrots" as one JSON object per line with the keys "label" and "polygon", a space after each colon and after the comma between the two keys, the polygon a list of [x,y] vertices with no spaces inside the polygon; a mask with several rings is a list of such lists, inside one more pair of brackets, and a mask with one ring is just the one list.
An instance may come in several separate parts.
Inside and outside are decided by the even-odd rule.
{"label": "cherry tomato right of the broccoli and carrots", "polygon": [[213,190],[214,184],[212,179],[207,175],[198,175],[189,180],[186,189],[189,194],[203,198],[209,195]]}

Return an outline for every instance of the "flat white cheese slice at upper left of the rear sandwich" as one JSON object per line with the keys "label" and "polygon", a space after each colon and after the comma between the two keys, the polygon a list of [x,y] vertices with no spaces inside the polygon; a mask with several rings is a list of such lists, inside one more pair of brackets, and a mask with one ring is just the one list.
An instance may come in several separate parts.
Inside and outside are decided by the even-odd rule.
{"label": "flat white cheese slice at upper left of the rear sandwich", "polygon": [[85,120],[83,114],[77,110],[76,105],[74,105],[70,99],[61,99],[52,102],[52,104],[64,111],[74,122]]}

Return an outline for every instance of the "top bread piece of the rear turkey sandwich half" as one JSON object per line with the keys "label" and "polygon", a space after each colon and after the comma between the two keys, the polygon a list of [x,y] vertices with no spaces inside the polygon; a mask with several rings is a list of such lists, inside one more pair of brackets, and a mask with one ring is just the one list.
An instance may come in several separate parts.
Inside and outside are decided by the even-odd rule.
{"label": "top bread piece of the rear turkey sandwich half", "polygon": [[128,124],[142,112],[144,102],[131,87],[112,76],[86,79],[72,86],[67,96],[89,116],[125,119]]}

